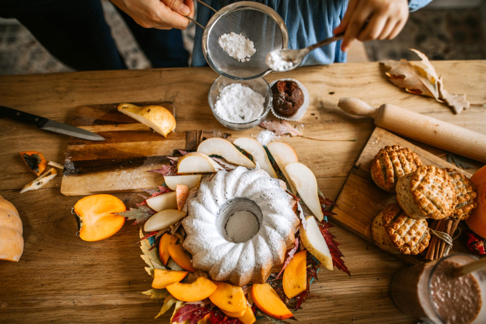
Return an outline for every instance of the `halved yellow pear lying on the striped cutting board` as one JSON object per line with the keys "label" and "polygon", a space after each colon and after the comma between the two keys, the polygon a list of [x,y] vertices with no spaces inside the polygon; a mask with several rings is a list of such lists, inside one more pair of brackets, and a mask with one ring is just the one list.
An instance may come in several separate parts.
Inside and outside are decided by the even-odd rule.
{"label": "halved yellow pear lying on the striped cutting board", "polygon": [[130,103],[120,103],[117,109],[164,137],[176,129],[174,115],[163,106],[137,106]]}

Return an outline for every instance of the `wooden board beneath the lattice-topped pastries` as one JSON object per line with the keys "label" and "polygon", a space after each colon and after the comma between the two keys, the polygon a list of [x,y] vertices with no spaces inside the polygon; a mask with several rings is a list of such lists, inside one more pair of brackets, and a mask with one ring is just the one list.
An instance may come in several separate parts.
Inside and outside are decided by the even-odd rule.
{"label": "wooden board beneath the lattice-topped pastries", "polygon": [[[471,177],[470,174],[440,157],[377,127],[359,155],[348,179],[344,183],[336,200],[337,206],[333,208],[333,212],[336,213],[336,215],[333,216],[333,220],[372,243],[374,242],[371,235],[371,225],[375,216],[387,205],[396,203],[395,194],[380,189],[375,184],[370,174],[373,158],[378,151],[386,145],[408,147],[419,155],[424,165],[434,165],[440,168],[453,168],[463,172],[466,176]],[[453,247],[453,249],[456,249],[456,247]],[[422,261],[421,256],[404,256],[401,254],[396,254],[396,256],[410,263],[418,263]]]}

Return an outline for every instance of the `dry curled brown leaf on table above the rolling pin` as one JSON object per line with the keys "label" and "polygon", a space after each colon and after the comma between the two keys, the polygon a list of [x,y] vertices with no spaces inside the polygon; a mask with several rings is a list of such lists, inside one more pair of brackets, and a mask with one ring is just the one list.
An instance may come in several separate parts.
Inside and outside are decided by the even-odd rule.
{"label": "dry curled brown leaf on table above the rolling pin", "polygon": [[451,95],[443,87],[442,77],[437,75],[434,66],[425,54],[411,49],[421,61],[385,60],[381,62],[387,69],[386,76],[395,86],[405,89],[407,92],[432,97],[438,102],[445,102],[459,113],[469,108],[469,102],[465,95]]}

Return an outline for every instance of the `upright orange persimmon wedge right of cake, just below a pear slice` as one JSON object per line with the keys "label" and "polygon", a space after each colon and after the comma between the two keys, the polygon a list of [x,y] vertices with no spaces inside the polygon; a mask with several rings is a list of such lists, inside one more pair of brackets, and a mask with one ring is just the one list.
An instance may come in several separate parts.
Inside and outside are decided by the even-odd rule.
{"label": "upright orange persimmon wedge right of cake, just below a pear slice", "polygon": [[307,288],[307,251],[303,250],[294,255],[284,270],[282,287],[287,297],[293,298]]}

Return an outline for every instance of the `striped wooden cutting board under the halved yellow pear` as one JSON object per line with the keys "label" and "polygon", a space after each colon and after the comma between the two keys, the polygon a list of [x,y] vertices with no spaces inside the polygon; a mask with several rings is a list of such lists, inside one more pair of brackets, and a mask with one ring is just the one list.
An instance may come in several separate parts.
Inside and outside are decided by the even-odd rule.
{"label": "striped wooden cutting board under the halved yellow pear", "polygon": [[[157,104],[174,115],[172,102]],[[165,157],[177,149],[195,150],[203,138],[222,136],[215,131],[194,130],[164,137],[116,110],[118,104],[78,106],[71,125],[95,132],[104,141],[71,137],[64,160],[61,193],[88,195],[102,192],[136,192],[164,183],[160,174],[147,172],[168,164]]]}

